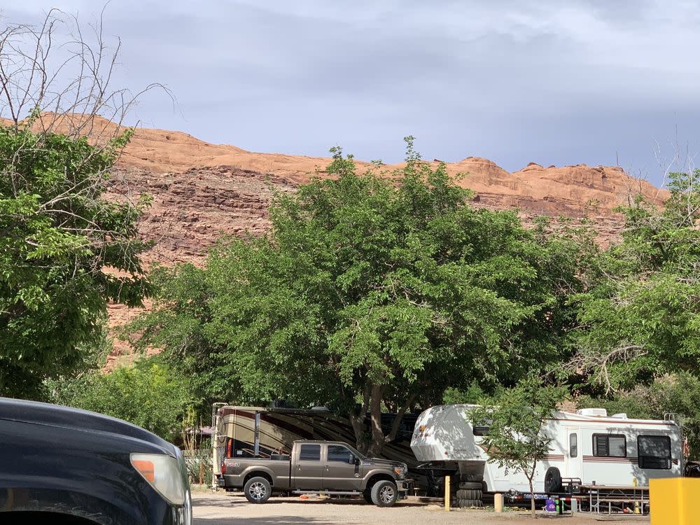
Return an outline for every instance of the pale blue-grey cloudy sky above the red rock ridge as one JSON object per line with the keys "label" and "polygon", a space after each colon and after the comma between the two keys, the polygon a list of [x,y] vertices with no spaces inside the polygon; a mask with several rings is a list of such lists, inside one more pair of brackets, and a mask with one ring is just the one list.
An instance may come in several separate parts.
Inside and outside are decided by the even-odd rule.
{"label": "pale blue-grey cloudy sky above the red rock ridge", "polygon": [[[94,0],[23,0],[0,23]],[[118,0],[115,82],[157,81],[132,118],[252,151],[490,158],[508,170],[700,151],[700,6],[682,0]],[[658,145],[658,146],[657,146]]]}

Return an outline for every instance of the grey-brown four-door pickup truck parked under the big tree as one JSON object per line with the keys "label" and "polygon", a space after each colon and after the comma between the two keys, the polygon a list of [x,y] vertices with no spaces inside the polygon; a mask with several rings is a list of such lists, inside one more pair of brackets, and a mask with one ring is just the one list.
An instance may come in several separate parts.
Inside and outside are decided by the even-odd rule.
{"label": "grey-brown four-door pickup truck parked under the big tree", "polygon": [[412,481],[407,465],[367,458],[349,444],[337,441],[295,441],[291,454],[269,458],[226,457],[218,486],[243,489],[251,503],[265,503],[272,493],[362,495],[367,503],[391,507],[405,498]]}

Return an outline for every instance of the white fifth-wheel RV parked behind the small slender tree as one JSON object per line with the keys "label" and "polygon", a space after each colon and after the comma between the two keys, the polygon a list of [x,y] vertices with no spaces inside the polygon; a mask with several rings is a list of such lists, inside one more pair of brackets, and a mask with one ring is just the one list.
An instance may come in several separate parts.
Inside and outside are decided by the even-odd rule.
{"label": "white fifth-wheel RV parked behind the small slender tree", "polygon": [[[523,474],[506,474],[496,463],[487,463],[489,456],[480,443],[489,429],[470,424],[468,412],[474,406],[442,405],[424,411],[411,441],[416,458],[426,468],[458,470],[463,481],[481,481],[485,491],[528,492]],[[683,472],[680,428],[671,420],[628,419],[626,414],[608,416],[605,409],[582,409],[554,412],[544,431],[552,444],[535,471],[538,493],[562,492],[562,479],[572,486],[630,486]]]}

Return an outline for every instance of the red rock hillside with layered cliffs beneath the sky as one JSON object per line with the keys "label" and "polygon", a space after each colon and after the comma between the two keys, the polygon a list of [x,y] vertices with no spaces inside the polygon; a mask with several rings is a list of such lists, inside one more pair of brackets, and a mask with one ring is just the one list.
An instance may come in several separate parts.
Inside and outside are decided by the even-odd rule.
{"label": "red rock hillside with layered cliffs beneath the sky", "polygon": [[[118,131],[99,119],[91,130]],[[200,264],[223,233],[254,235],[269,227],[267,207],[272,190],[294,191],[323,170],[330,160],[280,153],[252,153],[236,146],[208,144],[182,132],[139,129],[116,166],[109,197],[153,197],[141,221],[141,235],[155,241],[146,262]],[[360,169],[369,167],[357,162]],[[437,160],[433,161],[437,165]],[[391,172],[402,165],[387,165]],[[542,167],[531,163],[509,173],[490,160],[468,157],[448,162],[458,184],[476,192],[475,203],[495,209],[518,208],[525,221],[538,215],[587,217],[602,244],[619,232],[622,218],[612,209],[641,193],[661,204],[666,191],[628,176],[618,167]],[[111,307],[111,324],[136,312]],[[123,349],[122,345],[119,350]]]}

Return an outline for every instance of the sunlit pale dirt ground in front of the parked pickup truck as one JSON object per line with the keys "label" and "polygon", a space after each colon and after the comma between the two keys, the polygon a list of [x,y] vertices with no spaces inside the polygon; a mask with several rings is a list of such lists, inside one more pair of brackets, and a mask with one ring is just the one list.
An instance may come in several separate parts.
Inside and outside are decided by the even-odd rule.
{"label": "sunlit pale dirt ground in front of the parked pickup truck", "polygon": [[447,513],[437,505],[403,501],[391,508],[367,505],[361,500],[318,500],[272,498],[265,505],[252,505],[241,494],[193,493],[195,525],[596,525],[648,524],[646,517],[552,516],[542,515],[533,522],[527,512],[494,514],[488,510],[458,509]]}

